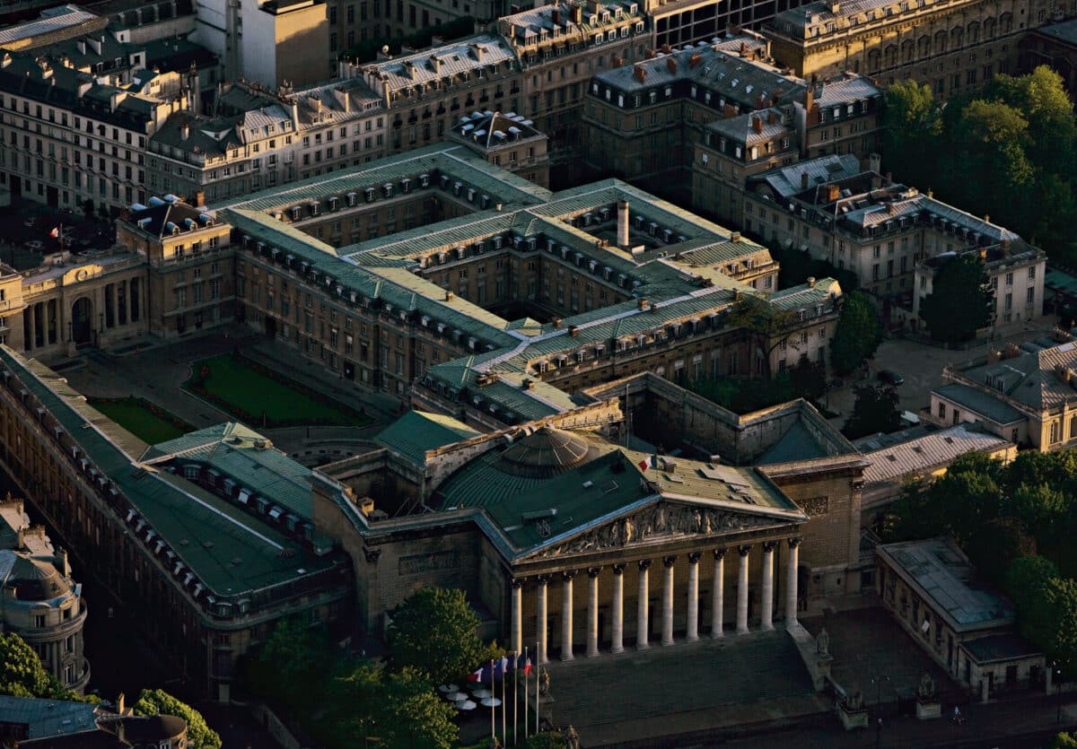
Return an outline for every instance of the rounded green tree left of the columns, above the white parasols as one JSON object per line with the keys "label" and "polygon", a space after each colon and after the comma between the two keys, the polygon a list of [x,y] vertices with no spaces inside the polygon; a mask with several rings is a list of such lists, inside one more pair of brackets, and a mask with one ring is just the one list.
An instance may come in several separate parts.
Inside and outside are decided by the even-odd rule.
{"label": "rounded green tree left of the columns, above the white parasols", "polygon": [[456,589],[416,591],[393,612],[387,634],[395,668],[412,666],[437,683],[473,670],[482,651],[478,617]]}

